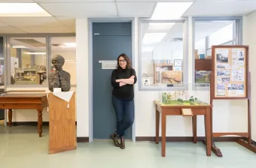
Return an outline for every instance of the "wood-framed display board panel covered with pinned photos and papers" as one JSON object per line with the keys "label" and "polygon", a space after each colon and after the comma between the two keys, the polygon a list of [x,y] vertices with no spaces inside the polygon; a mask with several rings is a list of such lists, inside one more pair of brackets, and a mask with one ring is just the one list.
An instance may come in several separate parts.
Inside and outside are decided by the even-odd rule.
{"label": "wood-framed display board panel covered with pinned photos and papers", "polygon": [[247,46],[212,46],[215,98],[247,98]]}

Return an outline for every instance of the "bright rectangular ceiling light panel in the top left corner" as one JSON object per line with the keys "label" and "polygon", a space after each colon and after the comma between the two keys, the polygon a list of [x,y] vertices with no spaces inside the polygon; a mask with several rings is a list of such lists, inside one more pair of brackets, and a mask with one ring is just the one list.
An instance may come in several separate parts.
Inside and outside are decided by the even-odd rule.
{"label": "bright rectangular ceiling light panel in the top left corner", "polygon": [[52,17],[36,3],[0,3],[0,17]]}

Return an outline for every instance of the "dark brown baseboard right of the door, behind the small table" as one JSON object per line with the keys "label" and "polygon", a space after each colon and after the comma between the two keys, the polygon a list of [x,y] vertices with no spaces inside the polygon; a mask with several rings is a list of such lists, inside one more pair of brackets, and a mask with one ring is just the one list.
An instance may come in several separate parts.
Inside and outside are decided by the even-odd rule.
{"label": "dark brown baseboard right of the door, behind the small table", "polygon": [[[204,136],[197,136],[197,141],[203,141],[206,139]],[[215,142],[236,142],[238,139],[243,139],[239,136],[220,136],[214,138]],[[136,141],[149,141],[154,142],[155,136],[136,136]],[[159,137],[161,141],[161,137]],[[166,136],[166,142],[192,142],[193,136]]]}

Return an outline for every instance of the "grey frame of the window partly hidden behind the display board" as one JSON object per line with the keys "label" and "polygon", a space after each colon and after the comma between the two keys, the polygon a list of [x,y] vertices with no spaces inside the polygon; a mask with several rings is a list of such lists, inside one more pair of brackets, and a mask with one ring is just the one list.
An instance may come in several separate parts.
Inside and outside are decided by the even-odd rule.
{"label": "grey frame of the window partly hidden behind the display board", "polygon": [[[236,42],[236,45],[242,45],[242,17],[192,17],[192,89],[194,91],[209,91],[209,83],[195,83],[195,23],[197,22],[212,22],[212,21],[236,21],[236,24],[233,25],[233,40],[226,41],[219,45],[224,45],[225,43]],[[208,39],[206,37],[206,53],[207,50],[212,49],[208,47]],[[197,87],[199,87],[197,89]]]}

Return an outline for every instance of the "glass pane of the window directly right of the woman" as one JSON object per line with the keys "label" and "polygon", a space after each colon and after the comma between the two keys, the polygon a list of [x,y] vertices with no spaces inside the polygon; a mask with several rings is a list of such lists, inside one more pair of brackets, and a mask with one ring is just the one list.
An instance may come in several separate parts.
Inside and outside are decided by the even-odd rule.
{"label": "glass pane of the window directly right of the woman", "polygon": [[183,84],[184,23],[141,23],[143,88]]}

